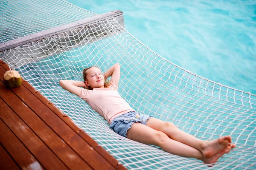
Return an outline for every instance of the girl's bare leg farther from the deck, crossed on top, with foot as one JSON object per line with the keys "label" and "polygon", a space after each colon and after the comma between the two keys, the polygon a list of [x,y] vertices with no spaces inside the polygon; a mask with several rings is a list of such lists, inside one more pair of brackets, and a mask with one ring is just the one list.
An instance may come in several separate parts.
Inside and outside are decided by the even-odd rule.
{"label": "girl's bare leg farther from the deck, crossed on top, with foot", "polygon": [[203,141],[183,132],[171,122],[163,122],[159,119],[150,118],[146,125],[154,130],[166,133],[167,136],[175,141],[194,147],[195,149],[201,151],[206,158],[210,158],[216,153],[225,150],[228,146],[231,148],[236,147],[235,144],[229,144],[232,142],[230,136],[223,136],[213,141]]}

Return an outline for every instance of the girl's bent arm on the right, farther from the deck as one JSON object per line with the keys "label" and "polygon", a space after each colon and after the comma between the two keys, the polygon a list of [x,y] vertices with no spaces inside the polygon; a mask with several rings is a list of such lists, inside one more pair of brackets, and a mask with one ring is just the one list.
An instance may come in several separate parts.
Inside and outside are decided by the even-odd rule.
{"label": "girl's bent arm on the right, farther from the deck", "polygon": [[109,68],[104,73],[105,79],[108,79],[108,77],[111,77],[111,81],[118,86],[118,82],[120,79],[120,65],[118,63],[114,64],[111,68]]}

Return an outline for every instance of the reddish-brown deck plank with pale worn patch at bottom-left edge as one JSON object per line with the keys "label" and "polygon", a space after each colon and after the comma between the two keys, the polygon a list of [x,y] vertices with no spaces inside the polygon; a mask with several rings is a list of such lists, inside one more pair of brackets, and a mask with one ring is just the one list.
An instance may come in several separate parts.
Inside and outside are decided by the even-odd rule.
{"label": "reddish-brown deck plank with pale worn patch at bottom-left edge", "polygon": [[0,141],[21,169],[44,169],[1,119]]}

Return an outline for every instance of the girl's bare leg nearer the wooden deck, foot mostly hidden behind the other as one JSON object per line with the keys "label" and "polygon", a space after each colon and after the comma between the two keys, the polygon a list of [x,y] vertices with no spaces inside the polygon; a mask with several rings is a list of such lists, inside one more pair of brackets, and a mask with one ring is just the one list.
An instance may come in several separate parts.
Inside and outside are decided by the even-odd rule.
{"label": "girl's bare leg nearer the wooden deck, foot mostly hidden behind the other", "polygon": [[161,147],[166,152],[178,156],[200,159],[207,164],[214,163],[220,156],[229,152],[231,149],[230,147],[227,147],[226,150],[212,156],[211,159],[207,159],[199,150],[190,147],[189,145],[172,140],[165,133],[154,130],[151,127],[145,126],[141,123],[134,123],[132,127],[128,129],[127,138],[144,144],[154,144]]}

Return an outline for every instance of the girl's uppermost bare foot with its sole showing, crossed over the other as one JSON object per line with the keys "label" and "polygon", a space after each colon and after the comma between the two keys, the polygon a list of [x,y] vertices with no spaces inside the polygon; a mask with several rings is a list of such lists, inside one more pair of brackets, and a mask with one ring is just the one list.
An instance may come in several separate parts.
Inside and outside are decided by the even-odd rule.
{"label": "girl's uppermost bare foot with its sole showing, crossed over the other", "polygon": [[230,142],[231,142],[230,136],[223,136],[213,141],[209,141],[209,142],[207,141],[202,145],[201,152],[203,153],[205,158],[211,158],[216,153],[221,152],[222,150],[225,150],[229,146]]}

